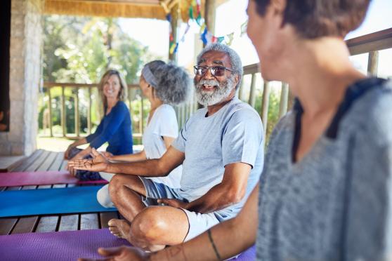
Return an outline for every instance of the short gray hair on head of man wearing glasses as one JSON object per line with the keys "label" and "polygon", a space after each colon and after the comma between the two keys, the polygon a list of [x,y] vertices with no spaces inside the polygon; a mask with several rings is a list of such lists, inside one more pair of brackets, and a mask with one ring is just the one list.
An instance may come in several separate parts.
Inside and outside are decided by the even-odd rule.
{"label": "short gray hair on head of man wearing glasses", "polygon": [[199,55],[197,55],[197,65],[200,64],[200,60],[202,60],[202,56],[204,55],[204,53],[208,53],[211,51],[218,51],[218,52],[226,53],[228,55],[231,62],[231,69],[233,69],[233,74],[238,75],[238,83],[237,86],[235,86],[235,89],[237,90],[238,88],[240,88],[241,81],[242,81],[242,74],[244,73],[240,55],[238,55],[238,53],[234,51],[232,48],[224,44],[218,44],[218,43],[209,44],[202,50],[202,52]]}

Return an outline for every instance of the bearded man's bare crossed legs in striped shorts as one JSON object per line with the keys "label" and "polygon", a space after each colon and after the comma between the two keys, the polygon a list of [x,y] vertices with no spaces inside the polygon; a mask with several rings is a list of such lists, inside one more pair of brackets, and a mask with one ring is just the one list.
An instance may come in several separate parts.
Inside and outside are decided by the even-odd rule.
{"label": "bearded man's bare crossed legs in striped shorts", "polygon": [[156,199],[184,199],[177,189],[147,178],[117,174],[110,181],[109,192],[119,213],[126,218],[110,220],[110,232],[145,250],[156,251],[183,243],[219,222],[214,213],[151,206],[157,204]]}

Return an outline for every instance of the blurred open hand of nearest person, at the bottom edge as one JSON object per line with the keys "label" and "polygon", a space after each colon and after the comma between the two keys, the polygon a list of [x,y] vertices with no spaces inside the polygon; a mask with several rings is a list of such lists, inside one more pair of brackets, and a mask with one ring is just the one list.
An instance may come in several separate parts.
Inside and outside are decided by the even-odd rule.
{"label": "blurred open hand of nearest person, at the bottom edge", "polygon": [[[120,246],[119,248],[98,248],[98,253],[106,257],[103,260],[110,261],[142,261],[148,260],[149,253],[143,252],[139,248]],[[89,261],[90,259],[79,258],[78,261]]]}

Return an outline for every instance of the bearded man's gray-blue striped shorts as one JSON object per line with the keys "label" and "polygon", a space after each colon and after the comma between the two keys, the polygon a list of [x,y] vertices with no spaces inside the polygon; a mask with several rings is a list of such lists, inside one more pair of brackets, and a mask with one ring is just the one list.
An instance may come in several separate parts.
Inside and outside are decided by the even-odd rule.
{"label": "bearded man's gray-blue striped shorts", "polygon": [[[141,181],[147,192],[146,198],[143,198],[145,206],[156,206],[157,199],[178,199],[183,202],[188,202],[178,194],[179,189],[172,189],[162,183],[153,182],[148,178],[141,178]],[[219,220],[215,217],[214,213],[202,214],[183,208],[181,208],[181,210],[185,212],[189,222],[188,234],[185,236],[184,241],[193,239],[219,223]]]}

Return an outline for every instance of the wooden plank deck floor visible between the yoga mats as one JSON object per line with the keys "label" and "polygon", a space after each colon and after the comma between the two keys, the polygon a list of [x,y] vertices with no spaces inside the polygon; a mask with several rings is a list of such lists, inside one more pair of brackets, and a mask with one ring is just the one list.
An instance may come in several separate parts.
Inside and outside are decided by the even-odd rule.
{"label": "wooden plank deck floor visible between the yoga mats", "polygon": [[[44,171],[64,170],[67,161],[63,152],[48,152],[42,149],[34,152],[11,171]],[[75,185],[41,185],[24,187],[0,187],[1,191],[20,189],[48,189],[56,187],[71,187]],[[119,218],[119,213],[72,213],[64,215],[33,215],[25,217],[1,217],[0,235],[28,232],[57,232],[83,229],[100,229],[107,227],[107,221]]]}

